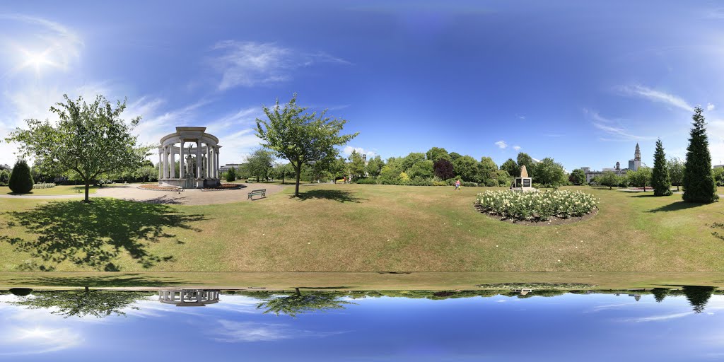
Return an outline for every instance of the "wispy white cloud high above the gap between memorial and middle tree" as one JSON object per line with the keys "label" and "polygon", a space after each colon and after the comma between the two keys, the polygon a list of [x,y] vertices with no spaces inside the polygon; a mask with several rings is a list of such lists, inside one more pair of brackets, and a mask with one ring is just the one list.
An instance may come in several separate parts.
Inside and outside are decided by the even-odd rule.
{"label": "wispy white cloud high above the gap between memorial and middle tree", "polygon": [[222,74],[219,90],[252,87],[292,79],[292,71],[315,63],[350,64],[324,52],[295,51],[275,43],[219,41],[213,51],[221,53],[212,64]]}

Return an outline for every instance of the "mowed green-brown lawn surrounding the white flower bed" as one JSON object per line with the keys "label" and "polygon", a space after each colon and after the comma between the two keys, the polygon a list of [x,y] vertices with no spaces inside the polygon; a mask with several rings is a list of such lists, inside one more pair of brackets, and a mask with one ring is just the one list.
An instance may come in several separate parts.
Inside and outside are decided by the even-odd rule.
{"label": "mowed green-brown lawn surrounding the white flower bed", "polygon": [[[724,203],[581,187],[592,219],[501,222],[489,188],[305,185],[253,202],[167,206],[0,199],[0,271],[724,271]],[[724,230],[722,230],[724,231]]]}

